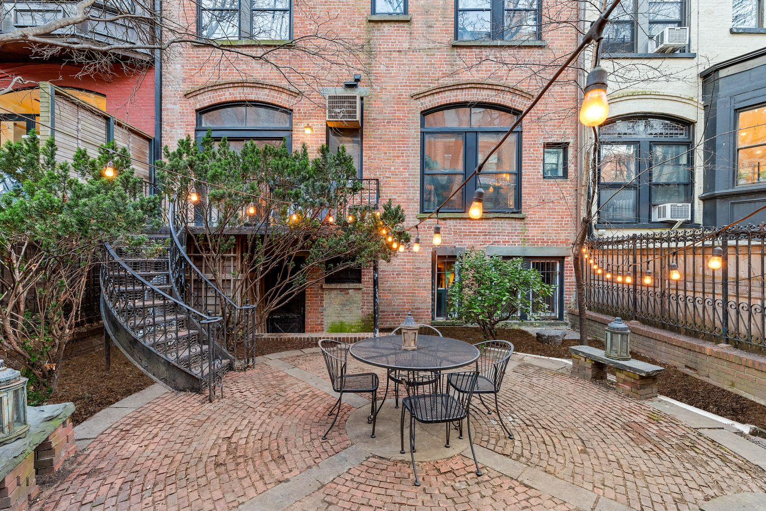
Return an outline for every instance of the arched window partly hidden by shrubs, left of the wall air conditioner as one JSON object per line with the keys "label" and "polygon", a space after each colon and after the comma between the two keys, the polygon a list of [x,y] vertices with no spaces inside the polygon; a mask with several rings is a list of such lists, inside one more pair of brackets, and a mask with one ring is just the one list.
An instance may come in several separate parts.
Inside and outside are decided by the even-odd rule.
{"label": "arched window partly hidden by shrubs, left of the wall air conditioner", "polygon": [[292,143],[293,116],[290,110],[265,103],[226,103],[211,106],[197,113],[197,139],[211,130],[214,139],[227,137],[234,149],[245,140],[256,140],[260,145],[279,146],[287,140]]}

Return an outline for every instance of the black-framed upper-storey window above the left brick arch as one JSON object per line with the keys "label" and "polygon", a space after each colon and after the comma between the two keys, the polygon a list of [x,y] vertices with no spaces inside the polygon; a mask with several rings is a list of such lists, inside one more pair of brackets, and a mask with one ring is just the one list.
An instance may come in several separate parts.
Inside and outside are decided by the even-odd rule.
{"label": "black-framed upper-storey window above the left brick arch", "polygon": [[291,0],[200,0],[198,34],[204,39],[289,41]]}

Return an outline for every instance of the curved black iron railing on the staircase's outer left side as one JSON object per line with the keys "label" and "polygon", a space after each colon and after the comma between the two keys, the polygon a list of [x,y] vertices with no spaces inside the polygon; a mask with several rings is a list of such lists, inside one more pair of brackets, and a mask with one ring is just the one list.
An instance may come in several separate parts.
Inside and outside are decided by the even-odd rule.
{"label": "curved black iron railing on the staircase's outer left side", "polygon": [[169,289],[165,272],[150,272],[153,276],[145,278],[139,275],[142,270],[146,268],[134,270],[106,244],[100,269],[106,306],[130,336],[200,378],[212,400],[214,388],[222,385],[224,358],[228,359],[218,351],[221,317],[201,313],[165,293],[161,289]]}

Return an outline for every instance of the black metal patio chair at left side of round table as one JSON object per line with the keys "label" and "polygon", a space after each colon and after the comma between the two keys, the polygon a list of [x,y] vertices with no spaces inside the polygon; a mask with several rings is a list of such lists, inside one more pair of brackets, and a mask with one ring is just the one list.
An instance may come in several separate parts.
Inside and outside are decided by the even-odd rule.
{"label": "black metal patio chair at left side of round table", "polygon": [[327,440],[327,434],[338,420],[344,392],[353,392],[355,394],[370,392],[372,394],[372,405],[367,422],[368,424],[372,422],[372,434],[370,437],[375,438],[375,418],[377,416],[375,406],[378,405],[378,375],[373,372],[360,372],[355,375],[349,375],[346,372],[349,362],[349,347],[345,342],[334,341],[332,339],[322,339],[319,341],[319,349],[322,350],[322,356],[325,359],[330,383],[332,383],[332,390],[339,393],[338,402],[332,405],[327,415],[332,415],[336,407],[338,411],[335,417],[332,418],[332,424],[327,428],[325,434],[322,435],[322,440]]}

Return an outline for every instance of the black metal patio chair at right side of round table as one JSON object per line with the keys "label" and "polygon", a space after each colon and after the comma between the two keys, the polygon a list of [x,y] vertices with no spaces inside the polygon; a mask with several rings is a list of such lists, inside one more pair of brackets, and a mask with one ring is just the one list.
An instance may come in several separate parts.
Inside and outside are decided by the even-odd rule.
{"label": "black metal patio chair at right side of round table", "polygon": [[[476,360],[476,372],[479,373],[479,376],[476,378],[476,388],[473,389],[473,394],[479,395],[481,404],[486,408],[487,414],[492,414],[492,410],[486,405],[482,395],[495,395],[495,411],[497,412],[497,418],[500,421],[502,429],[506,431],[509,439],[513,440],[513,434],[511,434],[508,427],[506,427],[505,421],[502,420],[500,407],[497,403],[497,393],[500,391],[502,379],[506,376],[508,361],[513,354],[513,345],[508,341],[484,341],[475,346],[479,349],[481,355],[479,356],[479,359]],[[450,385],[458,391],[469,391],[470,382],[461,377],[459,373],[450,374],[449,379]]]}

